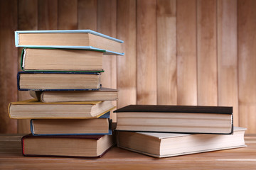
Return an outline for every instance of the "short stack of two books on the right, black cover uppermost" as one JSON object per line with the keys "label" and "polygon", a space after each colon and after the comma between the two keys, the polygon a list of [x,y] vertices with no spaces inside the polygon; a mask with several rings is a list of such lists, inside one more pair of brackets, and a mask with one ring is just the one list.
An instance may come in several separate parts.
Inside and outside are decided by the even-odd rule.
{"label": "short stack of two books on the right, black cover uppermost", "polygon": [[117,113],[117,146],[151,157],[245,147],[233,107],[130,105]]}

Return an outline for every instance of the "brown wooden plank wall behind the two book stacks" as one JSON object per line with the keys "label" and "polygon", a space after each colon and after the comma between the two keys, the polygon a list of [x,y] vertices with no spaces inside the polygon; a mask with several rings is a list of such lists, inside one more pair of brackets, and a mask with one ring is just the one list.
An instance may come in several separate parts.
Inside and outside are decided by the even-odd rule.
{"label": "brown wooden plank wall behind the two book stacks", "polygon": [[[10,120],[21,50],[14,30],[91,29],[124,40],[104,58],[102,84],[129,104],[233,106],[234,123],[256,133],[256,1],[0,1],[0,132],[29,132]],[[113,117],[114,118],[114,117]]]}

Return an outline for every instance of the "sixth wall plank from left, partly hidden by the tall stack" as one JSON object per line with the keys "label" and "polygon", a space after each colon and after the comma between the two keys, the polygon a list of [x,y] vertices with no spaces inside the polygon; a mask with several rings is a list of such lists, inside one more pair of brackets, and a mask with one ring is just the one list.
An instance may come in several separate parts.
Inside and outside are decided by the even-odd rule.
{"label": "sixth wall plank from left, partly hidden by the tall stack", "polygon": [[[117,1],[97,1],[97,31],[111,37],[117,37]],[[105,55],[103,57],[102,86],[112,89],[117,88],[117,56]],[[117,106],[117,101],[112,102]],[[110,113],[113,122],[117,121],[117,115]]]}

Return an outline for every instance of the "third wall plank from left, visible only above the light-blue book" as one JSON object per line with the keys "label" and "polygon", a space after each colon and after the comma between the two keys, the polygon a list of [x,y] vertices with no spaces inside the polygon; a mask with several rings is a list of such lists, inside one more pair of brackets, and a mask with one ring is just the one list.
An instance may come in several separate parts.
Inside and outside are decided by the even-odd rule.
{"label": "third wall plank from left, visible only above the light-blue book", "polygon": [[58,0],[38,0],[38,30],[57,30]]}

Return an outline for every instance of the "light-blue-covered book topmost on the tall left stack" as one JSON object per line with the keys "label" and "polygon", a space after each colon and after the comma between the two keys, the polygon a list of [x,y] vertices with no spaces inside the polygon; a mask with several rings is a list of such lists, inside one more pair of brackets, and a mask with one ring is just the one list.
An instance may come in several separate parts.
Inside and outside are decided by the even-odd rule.
{"label": "light-blue-covered book topmost on the tall left stack", "polygon": [[122,40],[93,30],[16,30],[15,45],[105,50],[106,55],[124,55]]}

